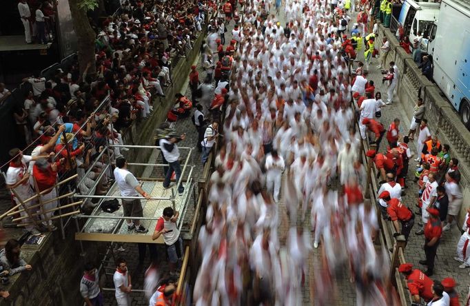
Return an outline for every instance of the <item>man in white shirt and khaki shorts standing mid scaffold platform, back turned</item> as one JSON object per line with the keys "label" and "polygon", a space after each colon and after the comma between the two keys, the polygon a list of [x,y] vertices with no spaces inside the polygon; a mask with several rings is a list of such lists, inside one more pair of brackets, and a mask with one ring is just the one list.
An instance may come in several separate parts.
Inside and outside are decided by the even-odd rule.
{"label": "man in white shirt and khaki shorts standing mid scaffold platform, back turned", "polygon": [[[119,157],[116,159],[116,168],[114,168],[113,174],[114,179],[119,186],[119,190],[121,190],[121,196],[136,197],[140,194],[145,199],[150,200],[150,194],[147,194],[147,192],[142,189],[134,174],[127,170],[127,161],[125,161],[124,157]],[[124,216],[143,216],[142,204],[139,198],[123,198],[122,203]],[[141,221],[139,219],[126,219],[126,222],[127,230],[129,231],[135,230],[138,233],[148,232],[148,230],[141,225]]]}

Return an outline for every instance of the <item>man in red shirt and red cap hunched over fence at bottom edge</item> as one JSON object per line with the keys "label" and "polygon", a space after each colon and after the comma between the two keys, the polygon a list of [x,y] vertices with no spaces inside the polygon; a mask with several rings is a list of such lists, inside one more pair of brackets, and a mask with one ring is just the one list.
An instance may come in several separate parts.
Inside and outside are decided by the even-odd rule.
{"label": "man in red shirt and red cap hunched over fence at bottom edge", "polygon": [[426,274],[419,269],[413,269],[411,263],[402,263],[398,267],[398,272],[402,273],[407,280],[411,300],[415,303],[420,303],[421,298],[428,303],[433,298],[431,287],[434,282]]}

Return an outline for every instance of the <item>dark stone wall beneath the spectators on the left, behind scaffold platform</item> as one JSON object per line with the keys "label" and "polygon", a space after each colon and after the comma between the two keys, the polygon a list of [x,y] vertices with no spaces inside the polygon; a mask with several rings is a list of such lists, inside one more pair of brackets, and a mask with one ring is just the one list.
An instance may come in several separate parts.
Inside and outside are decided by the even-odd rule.
{"label": "dark stone wall beneath the spectators on the left, behind scaffold platform", "polygon": [[[172,68],[172,87],[165,90],[165,98],[154,99],[154,111],[149,119],[138,122],[123,130],[123,141],[127,145],[153,145],[154,130],[165,121],[167,112],[174,105],[174,95],[180,92],[190,72],[194,60],[198,57],[203,31],[194,42],[194,48],[185,59],[179,59]],[[130,150],[126,155],[129,161],[145,163],[152,154],[151,149]],[[140,176],[143,167],[132,169]],[[73,223],[73,222],[72,222]],[[23,245],[22,256],[33,269],[10,277],[8,285],[1,286],[2,290],[10,292],[10,298],[1,299],[0,306],[82,306],[83,298],[79,292],[79,281],[85,261],[98,263],[99,248],[103,243],[83,242],[85,256],[80,256],[80,245],[74,240],[73,225],[67,229],[63,240],[59,231],[48,234],[41,245]],[[104,249],[101,249],[104,251]]]}

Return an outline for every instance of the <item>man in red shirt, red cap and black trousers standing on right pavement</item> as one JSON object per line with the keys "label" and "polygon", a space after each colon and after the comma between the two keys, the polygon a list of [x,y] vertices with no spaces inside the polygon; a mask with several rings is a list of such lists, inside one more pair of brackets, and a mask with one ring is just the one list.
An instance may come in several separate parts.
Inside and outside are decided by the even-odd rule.
{"label": "man in red shirt, red cap and black trousers standing on right pavement", "polygon": [[425,225],[425,254],[426,259],[420,261],[421,265],[427,265],[427,276],[433,275],[434,259],[438,251],[440,236],[442,235],[442,224],[440,223],[439,210],[428,208],[429,220]]}

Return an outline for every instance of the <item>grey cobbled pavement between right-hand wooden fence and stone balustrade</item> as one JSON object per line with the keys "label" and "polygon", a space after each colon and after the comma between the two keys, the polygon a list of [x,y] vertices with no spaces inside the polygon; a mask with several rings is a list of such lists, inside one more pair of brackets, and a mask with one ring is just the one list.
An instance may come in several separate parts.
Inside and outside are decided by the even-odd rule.
{"label": "grey cobbled pavement between right-hand wooden fence and stone balustrade", "polygon": [[[378,45],[380,48],[380,45]],[[387,97],[387,88],[385,85],[382,84],[382,74],[380,70],[376,68],[379,65],[379,59],[373,59],[371,65],[369,66],[369,76],[368,79],[374,80],[376,85],[376,92],[380,91],[382,93],[382,99]],[[403,73],[403,72],[400,72]],[[398,90],[400,89],[400,85],[398,85]],[[398,101],[398,97],[394,99],[394,103],[391,105],[387,105],[387,107],[382,108],[382,117],[380,118],[380,122],[385,126],[387,129],[395,118],[400,119],[400,135],[407,135],[410,125],[410,119],[412,114],[407,114],[405,112],[404,104],[405,103],[416,103],[416,101]],[[413,104],[414,105],[414,104]],[[413,143],[409,142],[409,147],[411,148],[411,152],[415,154],[413,159],[416,158],[416,139]],[[387,147],[387,141],[384,139],[380,145],[380,152],[385,152]],[[411,210],[415,211],[418,198],[418,184],[413,183],[414,172],[416,170],[416,162],[410,161],[409,162],[409,172],[408,172],[408,179],[407,185],[408,188],[405,190],[405,196],[402,196],[402,201]],[[409,242],[407,247],[405,248],[405,259],[410,263],[418,268],[422,269],[422,271],[426,270],[426,266],[422,266],[418,263],[420,259],[425,259],[425,252],[422,249],[424,245],[425,238],[424,236],[416,236],[414,233],[418,230],[418,221],[421,218],[418,216],[416,218],[415,225],[413,227],[412,234],[409,236]],[[456,246],[458,240],[461,236],[460,229],[457,227],[453,227],[450,231],[444,232],[442,234],[442,238],[440,240],[440,245],[438,247],[438,256],[436,258],[435,268],[434,268],[434,275],[431,277],[433,280],[442,281],[442,278],[445,277],[453,277],[456,279],[458,283],[458,294],[460,295],[460,301],[463,303],[467,300],[467,294],[469,293],[469,284],[470,284],[470,276],[469,271],[470,269],[460,269],[458,266],[460,263],[453,259],[456,256]]]}

